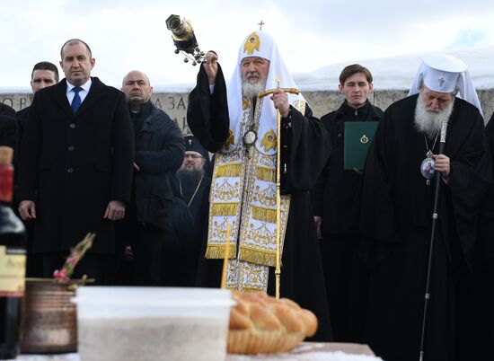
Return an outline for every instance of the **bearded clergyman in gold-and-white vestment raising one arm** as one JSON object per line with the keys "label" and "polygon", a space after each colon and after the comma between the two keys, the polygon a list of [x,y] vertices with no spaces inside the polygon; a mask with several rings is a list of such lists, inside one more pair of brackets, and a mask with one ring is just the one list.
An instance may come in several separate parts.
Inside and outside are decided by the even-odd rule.
{"label": "bearded clergyman in gold-and-white vestment raising one arm", "polygon": [[[225,285],[274,295],[277,246],[277,142],[281,142],[280,295],[310,309],[320,321],[315,339],[331,338],[322,264],[308,190],[330,154],[319,119],[295,88],[274,40],[252,31],[243,40],[228,87],[214,52],[200,67],[187,114],[192,133],[216,154],[207,242],[199,261],[199,286],[220,286],[230,242]],[[281,129],[277,128],[277,110]],[[227,227],[231,239],[227,240]]]}

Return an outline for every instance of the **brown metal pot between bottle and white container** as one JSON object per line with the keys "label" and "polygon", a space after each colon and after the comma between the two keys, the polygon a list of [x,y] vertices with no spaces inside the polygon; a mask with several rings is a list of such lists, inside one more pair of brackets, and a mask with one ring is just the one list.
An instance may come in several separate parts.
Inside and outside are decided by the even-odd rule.
{"label": "brown metal pot between bottle and white container", "polygon": [[75,284],[53,278],[28,278],[22,301],[21,352],[67,353],[77,351]]}

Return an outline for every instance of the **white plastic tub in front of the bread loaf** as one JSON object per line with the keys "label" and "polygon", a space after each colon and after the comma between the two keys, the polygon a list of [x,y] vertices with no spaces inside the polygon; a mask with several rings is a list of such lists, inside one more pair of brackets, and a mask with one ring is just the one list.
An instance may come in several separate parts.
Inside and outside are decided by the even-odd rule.
{"label": "white plastic tub in front of the bread loaf", "polygon": [[230,291],[84,286],[73,301],[84,361],[225,360]]}

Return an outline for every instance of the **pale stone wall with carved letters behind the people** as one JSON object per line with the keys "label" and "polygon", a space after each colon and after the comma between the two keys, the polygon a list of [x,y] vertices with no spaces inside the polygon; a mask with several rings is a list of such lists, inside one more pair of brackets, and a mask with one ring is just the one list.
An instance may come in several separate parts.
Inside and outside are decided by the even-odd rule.
{"label": "pale stone wall with carved letters behind the people", "polygon": [[[407,93],[408,91],[404,90],[377,91],[370,94],[369,101],[373,102],[382,110],[385,110],[388,105],[393,103],[393,101],[404,98]],[[494,110],[494,89],[481,90],[478,94],[487,121],[490,119],[490,115]],[[321,118],[331,110],[337,109],[340,106],[341,101],[344,100],[343,95],[336,91],[304,92],[304,97],[311,105],[314,115],[318,118]],[[32,94],[0,93],[0,101],[13,107],[15,110],[21,110],[31,104]],[[158,108],[164,110],[177,122],[184,134],[190,132],[186,120],[188,105],[187,93],[156,93],[153,95],[152,101]]]}

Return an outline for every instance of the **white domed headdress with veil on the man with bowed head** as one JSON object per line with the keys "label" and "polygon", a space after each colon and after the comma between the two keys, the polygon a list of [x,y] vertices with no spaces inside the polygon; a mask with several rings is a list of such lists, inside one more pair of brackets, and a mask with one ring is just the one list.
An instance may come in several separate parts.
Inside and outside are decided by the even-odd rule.
{"label": "white domed headdress with veil on the man with bowed head", "polygon": [[410,87],[409,96],[419,93],[422,84],[434,92],[458,91],[456,97],[468,101],[482,114],[481,101],[473,86],[472,77],[459,58],[445,54],[424,57]]}

